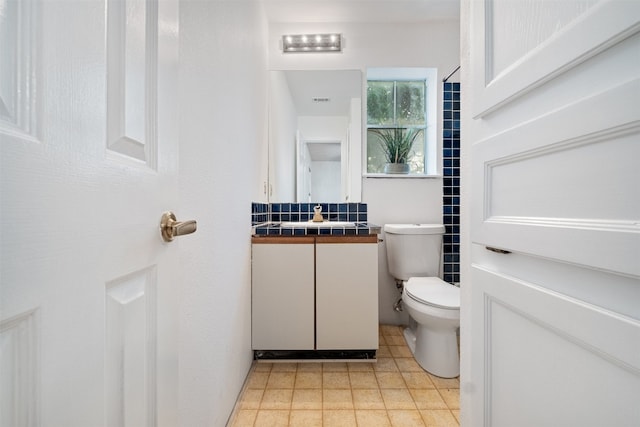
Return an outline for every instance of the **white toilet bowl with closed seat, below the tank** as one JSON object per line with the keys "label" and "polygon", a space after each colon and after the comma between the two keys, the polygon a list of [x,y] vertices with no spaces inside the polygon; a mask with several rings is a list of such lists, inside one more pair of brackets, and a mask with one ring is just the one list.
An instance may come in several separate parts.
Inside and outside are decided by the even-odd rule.
{"label": "white toilet bowl with closed seat, below the tank", "polygon": [[413,320],[404,337],[418,364],[438,377],[457,377],[460,289],[437,277],[411,277],[402,302]]}

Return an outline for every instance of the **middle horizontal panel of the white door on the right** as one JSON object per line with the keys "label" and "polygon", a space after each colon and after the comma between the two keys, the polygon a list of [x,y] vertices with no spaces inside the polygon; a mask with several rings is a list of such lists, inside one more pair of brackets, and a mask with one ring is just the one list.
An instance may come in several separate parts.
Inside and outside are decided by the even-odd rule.
{"label": "middle horizontal panel of the white door on the right", "polygon": [[473,240],[640,276],[637,99],[640,79],[475,144]]}

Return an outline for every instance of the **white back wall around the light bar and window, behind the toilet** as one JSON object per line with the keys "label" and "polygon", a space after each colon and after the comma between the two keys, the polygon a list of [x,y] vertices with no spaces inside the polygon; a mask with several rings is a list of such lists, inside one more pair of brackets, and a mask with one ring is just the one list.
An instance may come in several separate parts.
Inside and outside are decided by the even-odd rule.
{"label": "white back wall around the light bar and window, behind the toilet", "polygon": [[[344,49],[337,54],[283,54],[283,34],[338,32]],[[459,65],[459,21],[422,23],[272,23],[269,25],[269,68],[273,70],[358,69],[370,67],[437,68],[437,81]],[[363,88],[366,82],[363,79]],[[438,85],[439,100],[442,85]],[[442,102],[438,102],[438,171],[441,171]],[[442,222],[441,179],[365,178],[362,201],[369,205],[369,221],[378,225],[402,222]],[[382,323],[406,322],[393,311],[397,291],[389,276],[384,244],[380,245],[379,305]]]}

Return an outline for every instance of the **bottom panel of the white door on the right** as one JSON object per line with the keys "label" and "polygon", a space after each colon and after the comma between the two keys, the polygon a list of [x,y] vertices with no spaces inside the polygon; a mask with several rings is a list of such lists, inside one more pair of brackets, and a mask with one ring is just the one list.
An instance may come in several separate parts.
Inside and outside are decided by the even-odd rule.
{"label": "bottom panel of the white door on the right", "polygon": [[484,348],[479,425],[638,424],[640,321],[480,266],[471,280],[484,307],[473,329]]}

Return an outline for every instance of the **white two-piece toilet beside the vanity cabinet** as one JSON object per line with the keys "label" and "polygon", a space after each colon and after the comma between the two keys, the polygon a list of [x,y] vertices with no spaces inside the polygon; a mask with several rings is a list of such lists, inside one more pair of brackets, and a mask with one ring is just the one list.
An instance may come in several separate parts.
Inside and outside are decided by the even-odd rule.
{"label": "white two-piece toilet beside the vanity cabinet", "polygon": [[433,375],[457,377],[460,289],[438,277],[444,226],[386,224],[384,232],[389,272],[403,283],[410,317],[404,337],[413,357]]}

